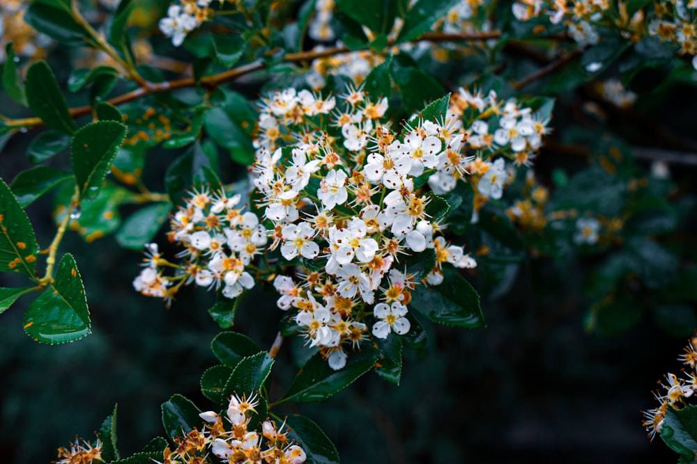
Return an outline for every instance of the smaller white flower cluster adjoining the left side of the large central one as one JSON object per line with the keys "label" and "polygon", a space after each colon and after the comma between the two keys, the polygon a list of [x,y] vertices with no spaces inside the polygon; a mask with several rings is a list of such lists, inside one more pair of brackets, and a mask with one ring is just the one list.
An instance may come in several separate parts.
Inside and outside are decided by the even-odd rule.
{"label": "smaller white flower cluster adjoining the left side of the large central one", "polygon": [[[239,194],[229,197],[224,191],[210,193],[208,189],[192,192],[170,221],[170,241],[185,247],[178,255],[183,262],[162,259],[158,246],[148,244],[144,269],[133,287],[167,301],[182,285],[192,282],[209,289],[222,287],[227,298],[254,287],[245,266],[266,245],[266,229],[256,214],[238,209],[239,202]],[[174,269],[174,275],[164,275],[166,267]]]}

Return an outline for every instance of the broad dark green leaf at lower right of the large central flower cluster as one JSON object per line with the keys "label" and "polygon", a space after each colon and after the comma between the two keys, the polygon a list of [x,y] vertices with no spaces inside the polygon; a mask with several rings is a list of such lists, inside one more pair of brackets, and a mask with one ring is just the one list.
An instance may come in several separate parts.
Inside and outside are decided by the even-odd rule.
{"label": "broad dark green leaf at lower right of the large central flower cluster", "polygon": [[431,321],[446,326],[484,327],[477,291],[454,269],[443,269],[441,285],[416,287],[410,305]]}

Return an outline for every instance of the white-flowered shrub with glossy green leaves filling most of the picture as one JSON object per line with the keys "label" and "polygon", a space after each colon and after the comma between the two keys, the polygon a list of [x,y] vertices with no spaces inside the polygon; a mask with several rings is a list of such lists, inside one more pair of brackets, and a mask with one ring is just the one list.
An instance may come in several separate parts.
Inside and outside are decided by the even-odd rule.
{"label": "white-flowered shrub with glossy green leaves filling most of the picture", "polygon": [[[286,405],[369,371],[399,385],[424,321],[483,328],[487,304],[535,260],[569,281],[583,263],[588,332],[622,333],[645,314],[691,331],[697,268],[679,232],[694,196],[668,164],[689,157],[662,147],[691,142],[674,134],[684,121],[652,118],[673,88],[694,86],[693,6],[3,3],[0,150],[26,141],[32,167],[1,173],[0,271],[13,275],[0,312],[34,295],[31,339],[89,335],[89,285],[63,238],[113,234],[145,251],[135,291],[176,307],[180,292],[207,290],[224,329],[201,376],[213,410],[174,394],[167,437],[121,457],[114,409],[56,462],[337,463]],[[56,231],[43,243],[25,209],[49,194]],[[245,299],[277,319],[238,311]],[[229,330],[236,319],[277,326],[270,349]],[[298,371],[272,389],[284,344]],[[682,358],[696,356],[691,345]],[[671,438],[694,420],[686,375],[668,374],[645,413],[683,460],[697,451]]]}

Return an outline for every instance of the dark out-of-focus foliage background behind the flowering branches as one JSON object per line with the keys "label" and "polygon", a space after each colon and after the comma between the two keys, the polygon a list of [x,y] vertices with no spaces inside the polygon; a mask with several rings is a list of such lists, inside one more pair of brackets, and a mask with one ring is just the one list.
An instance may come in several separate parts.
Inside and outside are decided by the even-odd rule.
{"label": "dark out-of-focus foliage background behind the flowering branches", "polygon": [[[134,36],[152,35],[167,3],[139,4],[130,19]],[[300,3],[289,3],[290,17],[301,9]],[[502,11],[504,6],[510,11],[510,4]],[[94,8],[95,15],[105,14],[100,11]],[[335,22],[337,31],[350,31],[350,21]],[[406,355],[399,387],[372,373],[319,408],[309,404],[282,410],[315,419],[345,463],[674,459],[672,451],[645,438],[639,410],[650,406],[655,381],[666,367],[671,369],[675,353],[697,327],[697,138],[691,105],[697,101],[696,72],[687,59],[675,56],[674,49],[666,53],[661,48],[665,44],[648,38],[633,44],[610,38],[520,90],[511,84],[552,63],[550,56],[559,49],[574,45],[528,40],[531,26],[510,15],[497,17],[493,26],[500,25],[508,26],[513,38],[498,54],[491,51],[496,47],[480,53],[477,47],[444,46],[445,51],[432,55],[395,61],[395,75],[401,65],[438,78],[440,83],[422,89],[424,98],[442,95],[445,87],[474,84],[496,89],[501,98],[522,94],[556,99],[553,133],[534,160],[536,182],[549,192],[544,201],[530,198],[530,205],[539,206],[537,217],[546,218],[542,223],[521,223],[507,214],[512,205],[502,200],[479,211],[480,227],[475,230],[468,227],[471,189],[453,193],[467,201],[450,216],[455,226],[451,237],[477,250],[479,266],[468,278],[482,295],[488,327],[463,331],[423,321],[429,342],[422,351]],[[236,24],[221,17],[216,27],[234,29]],[[297,40],[291,29],[283,29],[278,40],[287,40],[286,45],[290,38]],[[204,58],[211,53],[207,38],[203,32],[192,35],[176,58]],[[147,44],[151,49],[142,45],[142,53],[153,67],[165,69],[167,75],[181,71],[171,58],[167,38],[155,33]],[[39,45],[48,50],[45,57],[61,83],[69,83],[71,75],[70,67],[61,63],[99,63],[98,55],[84,49]],[[226,45],[235,49],[239,44]],[[447,59],[434,59],[443,53]],[[229,61],[223,65],[228,67],[243,59],[224,55]],[[597,60],[602,67],[589,72],[588,65]],[[234,95],[251,100],[263,90],[305,82],[280,64],[275,70],[273,79],[260,74],[234,83]],[[618,75],[621,84],[608,80]],[[342,78],[336,79],[338,88]],[[68,103],[77,106],[125,89],[125,83],[107,76],[90,88],[68,93]],[[199,97],[196,90],[184,90],[169,100],[167,120],[160,119],[154,128],[144,125],[143,143],[134,141],[130,155],[116,166],[123,172],[141,168],[144,183],[153,191],[174,189],[171,176],[166,182],[164,173],[172,173],[173,161],[187,156],[187,149],[162,148],[162,134],[185,135],[182,121],[190,115],[182,113],[187,102]],[[147,97],[121,109],[138,118],[160,98],[171,97]],[[4,93],[0,107],[8,116],[25,115]],[[2,141],[4,179],[31,166],[25,154],[31,152],[32,136],[16,134]],[[245,168],[236,164],[243,160],[220,156],[215,146],[206,150],[209,161],[220,163],[223,182],[245,175]],[[244,150],[235,153],[245,156]],[[65,151],[59,152],[49,164],[61,166],[67,159]],[[182,182],[179,188],[185,189],[187,182]],[[526,198],[533,185],[537,184],[530,184],[521,170],[507,195]],[[176,198],[176,192],[170,193]],[[114,195],[109,198],[118,196]],[[51,214],[61,204],[58,198],[41,198],[27,210],[40,243],[52,237]],[[109,232],[121,226],[118,216],[128,218],[138,207],[123,200],[111,210],[116,211],[113,223],[99,216],[82,221],[96,223],[106,237],[95,241],[99,234],[91,236],[93,230],[79,231],[68,234],[61,246],[79,263],[92,335],[72,344],[45,346],[20,330],[26,307],[22,301],[1,316],[0,450],[6,462],[52,461],[54,450],[75,433],[91,438],[114,403],[121,451],[128,456],[161,434],[159,405],[171,394],[185,394],[204,410],[208,404],[201,396],[199,377],[215,363],[210,340],[220,328],[206,314],[215,296],[185,289],[165,310],[135,293],[131,282],[140,254],[119,245],[123,234],[117,241],[119,236]],[[576,212],[550,220],[558,211]],[[166,214],[160,212],[162,221]],[[574,240],[577,219],[584,216],[601,225],[594,243]],[[155,241],[166,242],[163,230]],[[0,275],[0,284],[19,285],[15,276],[6,274]],[[258,287],[245,296],[234,330],[266,347],[273,342],[282,314],[273,304],[273,293],[262,295],[264,291]],[[283,347],[272,392],[289,384],[299,351],[297,339]]]}

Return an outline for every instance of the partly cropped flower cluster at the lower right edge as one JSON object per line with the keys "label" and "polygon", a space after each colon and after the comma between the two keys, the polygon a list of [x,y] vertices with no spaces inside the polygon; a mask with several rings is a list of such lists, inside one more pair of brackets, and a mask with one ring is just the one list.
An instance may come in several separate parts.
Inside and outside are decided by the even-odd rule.
{"label": "partly cropped flower cluster at the lower right edge", "polygon": [[[656,433],[661,433],[664,417],[668,408],[680,409],[687,405],[687,399],[697,390],[697,337],[693,336],[677,358],[687,368],[680,369],[680,375],[666,374],[665,383],[660,383],[663,391],[653,392],[654,399],[660,403],[657,408],[643,411],[643,426],[651,440]],[[689,369],[686,371],[686,369]]]}

